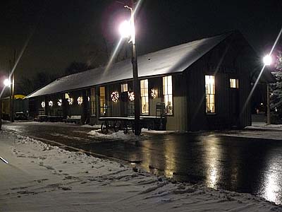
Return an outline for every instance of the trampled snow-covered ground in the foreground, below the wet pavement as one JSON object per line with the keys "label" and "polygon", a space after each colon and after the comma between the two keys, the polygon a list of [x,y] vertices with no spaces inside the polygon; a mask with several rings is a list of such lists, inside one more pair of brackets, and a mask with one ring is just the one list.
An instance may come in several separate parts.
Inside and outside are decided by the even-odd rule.
{"label": "trampled snow-covered ground in the foreground, below the wet pavement", "polygon": [[282,211],[251,194],[157,177],[0,131],[0,211]]}

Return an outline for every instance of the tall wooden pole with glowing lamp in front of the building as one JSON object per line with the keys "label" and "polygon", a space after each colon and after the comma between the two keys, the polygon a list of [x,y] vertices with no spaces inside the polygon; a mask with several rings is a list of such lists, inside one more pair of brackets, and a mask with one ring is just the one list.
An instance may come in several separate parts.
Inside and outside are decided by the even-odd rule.
{"label": "tall wooden pole with glowing lamp in front of the building", "polygon": [[141,133],[140,129],[140,82],[138,79],[138,69],[137,69],[137,54],[136,54],[136,40],[135,40],[135,20],[134,20],[134,3],[132,2],[132,7],[124,6],[130,10],[130,22],[123,21],[120,25],[120,33],[122,37],[130,37],[129,42],[132,47],[132,64],[133,64],[133,92],[135,95],[134,100],[134,133],[139,136]]}

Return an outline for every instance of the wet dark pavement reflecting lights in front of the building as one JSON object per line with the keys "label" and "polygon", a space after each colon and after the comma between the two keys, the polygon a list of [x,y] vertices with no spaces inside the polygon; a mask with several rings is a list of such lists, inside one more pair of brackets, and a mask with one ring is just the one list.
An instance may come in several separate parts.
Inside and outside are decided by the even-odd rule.
{"label": "wet dark pavement reflecting lights in front of the building", "polygon": [[6,122],[3,128],[136,163],[157,175],[257,194],[282,204],[282,137],[274,141],[202,132],[109,141],[95,139],[87,134],[91,128],[75,124]]}

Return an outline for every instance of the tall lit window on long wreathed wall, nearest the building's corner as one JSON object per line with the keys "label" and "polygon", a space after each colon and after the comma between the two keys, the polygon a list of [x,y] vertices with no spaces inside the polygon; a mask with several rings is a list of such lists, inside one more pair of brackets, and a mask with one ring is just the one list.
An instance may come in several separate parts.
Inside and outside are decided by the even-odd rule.
{"label": "tall lit window on long wreathed wall, nearest the building's corner", "polygon": [[173,112],[172,76],[163,77],[163,95],[164,95],[164,104],[166,105],[166,114],[172,114]]}

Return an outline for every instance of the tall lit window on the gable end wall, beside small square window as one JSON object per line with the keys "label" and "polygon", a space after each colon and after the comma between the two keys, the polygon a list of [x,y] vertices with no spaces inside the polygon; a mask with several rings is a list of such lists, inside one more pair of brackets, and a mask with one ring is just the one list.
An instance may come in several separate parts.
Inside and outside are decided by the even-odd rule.
{"label": "tall lit window on the gable end wall, beside small square window", "polygon": [[213,113],[215,112],[214,95],[216,93],[215,85],[214,85],[214,76],[206,75],[205,81],[206,81],[206,112]]}

